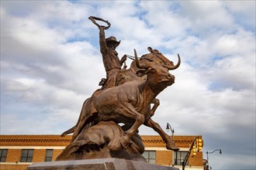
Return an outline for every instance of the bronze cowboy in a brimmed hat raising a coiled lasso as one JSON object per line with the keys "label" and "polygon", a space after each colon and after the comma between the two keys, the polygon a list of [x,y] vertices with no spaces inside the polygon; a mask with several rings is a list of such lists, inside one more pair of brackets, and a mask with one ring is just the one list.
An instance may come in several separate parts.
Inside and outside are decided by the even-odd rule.
{"label": "bronze cowboy in a brimmed hat raising a coiled lasso", "polygon": [[[121,70],[121,66],[126,61],[126,55],[124,55],[122,59],[119,60],[116,47],[119,46],[120,41],[117,41],[116,37],[114,36],[110,36],[106,39],[104,30],[109,29],[111,26],[108,21],[94,16],[90,16],[89,19],[91,19],[92,22],[99,27],[99,46],[106,70],[106,79],[102,78],[102,80],[99,82],[99,86],[102,86],[102,90],[109,87],[115,87],[116,76]],[[99,26],[99,24],[95,22],[95,19],[106,22],[108,26]]]}

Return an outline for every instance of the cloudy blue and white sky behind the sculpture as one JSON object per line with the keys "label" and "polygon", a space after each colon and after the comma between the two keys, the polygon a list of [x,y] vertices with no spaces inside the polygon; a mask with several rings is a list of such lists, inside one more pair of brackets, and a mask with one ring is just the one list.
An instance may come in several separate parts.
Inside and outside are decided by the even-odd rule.
{"label": "cloudy blue and white sky behind the sculpture", "polygon": [[111,22],[119,57],[148,46],[182,57],[154,121],[202,135],[204,153],[222,149],[209,155],[213,169],[255,168],[255,1],[1,1],[1,134],[76,123],[106,77],[90,15]]}

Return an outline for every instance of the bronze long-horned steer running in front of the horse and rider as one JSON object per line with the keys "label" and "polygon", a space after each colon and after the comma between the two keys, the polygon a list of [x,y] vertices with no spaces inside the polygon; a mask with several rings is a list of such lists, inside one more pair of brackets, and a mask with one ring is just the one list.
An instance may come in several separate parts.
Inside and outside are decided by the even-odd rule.
{"label": "bronze long-horned steer running in front of the horse and rider", "polygon": [[[166,148],[178,150],[172,144],[168,134],[161,129],[159,124],[151,120],[149,114],[150,104],[157,97],[157,94],[161,93],[166,87],[171,86],[172,83],[175,83],[175,76],[168,73],[168,70],[178,68],[181,63],[180,57],[178,56],[178,63],[175,66],[170,66],[164,63],[156,63],[152,59],[147,59],[147,62],[140,62],[137,59],[135,50],[134,52],[137,68],[140,69],[137,72],[137,76],[147,74],[147,79],[132,80],[117,87],[93,93],[92,97],[85,101],[83,106],[85,115],[80,117],[80,122],[74,130],[72,141],[85,126],[92,122],[95,124],[99,121],[115,121],[117,124],[126,124],[129,129],[119,139],[119,145],[113,145],[112,148],[109,148],[113,151],[121,148],[121,145],[126,148],[141,124],[145,124],[157,131],[166,142]],[[147,56],[144,55],[144,57]]]}

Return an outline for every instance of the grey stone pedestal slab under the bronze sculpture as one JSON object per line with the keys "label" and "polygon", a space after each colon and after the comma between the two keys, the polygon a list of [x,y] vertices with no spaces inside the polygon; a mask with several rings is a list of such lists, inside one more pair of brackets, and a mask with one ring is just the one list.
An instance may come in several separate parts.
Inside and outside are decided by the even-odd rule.
{"label": "grey stone pedestal slab under the bronze sculpture", "polygon": [[148,164],[145,162],[135,162],[119,158],[100,158],[77,161],[59,161],[59,162],[39,162],[29,165],[27,170],[78,170],[78,169],[95,169],[95,170],[179,170],[179,168]]}

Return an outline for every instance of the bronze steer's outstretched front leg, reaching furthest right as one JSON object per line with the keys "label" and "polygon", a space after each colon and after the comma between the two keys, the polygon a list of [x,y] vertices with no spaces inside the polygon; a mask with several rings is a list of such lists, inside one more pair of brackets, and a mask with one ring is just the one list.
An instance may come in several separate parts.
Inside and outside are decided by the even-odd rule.
{"label": "bronze steer's outstretched front leg, reaching furthest right", "polygon": [[154,122],[149,116],[146,117],[146,120],[144,121],[144,124],[147,127],[153,128],[154,131],[157,131],[158,134],[160,134],[161,138],[164,140],[166,143],[166,148],[173,150],[173,151],[178,151],[179,148],[175,146],[175,144],[171,141],[171,138],[169,137],[168,134],[166,134],[163,129],[160,127],[157,122]]}

